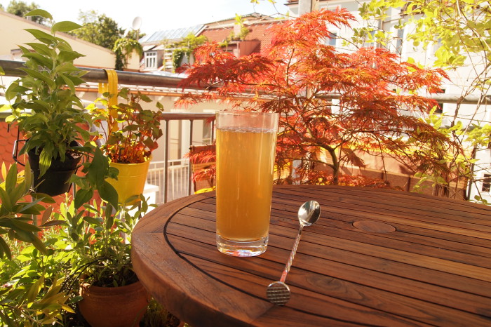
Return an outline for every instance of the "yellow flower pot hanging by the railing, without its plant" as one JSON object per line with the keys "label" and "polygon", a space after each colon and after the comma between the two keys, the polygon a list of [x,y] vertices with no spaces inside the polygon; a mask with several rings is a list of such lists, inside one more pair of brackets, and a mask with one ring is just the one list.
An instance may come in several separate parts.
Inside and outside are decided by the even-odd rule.
{"label": "yellow flower pot hanging by the railing, without its plant", "polygon": [[[147,173],[152,158],[142,163],[117,163],[111,162],[110,166],[118,168],[118,179],[108,178],[107,182],[111,184],[118,192],[120,203],[126,202],[130,196],[140,195],[143,193]],[[133,204],[127,203],[128,205]]]}

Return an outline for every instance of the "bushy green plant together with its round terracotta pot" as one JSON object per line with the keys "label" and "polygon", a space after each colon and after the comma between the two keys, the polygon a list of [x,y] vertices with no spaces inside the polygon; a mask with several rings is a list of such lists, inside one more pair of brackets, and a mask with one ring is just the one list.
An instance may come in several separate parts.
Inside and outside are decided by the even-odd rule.
{"label": "bushy green plant together with its round terracotta pot", "polygon": [[140,195],[138,206],[86,204],[62,209],[65,229],[60,231],[75,251],[80,276],[79,309],[91,326],[138,326],[149,295],[131,265],[131,232],[149,208]]}

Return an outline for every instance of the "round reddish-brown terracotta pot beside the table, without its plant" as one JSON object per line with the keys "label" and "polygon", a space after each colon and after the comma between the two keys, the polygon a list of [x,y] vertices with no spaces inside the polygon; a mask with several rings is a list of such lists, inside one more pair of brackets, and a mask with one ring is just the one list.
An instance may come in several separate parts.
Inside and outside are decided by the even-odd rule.
{"label": "round reddish-brown terracotta pot beside the table, without its plant", "polygon": [[79,309],[93,327],[138,326],[149,303],[140,281],[121,287],[100,287],[83,283]]}

